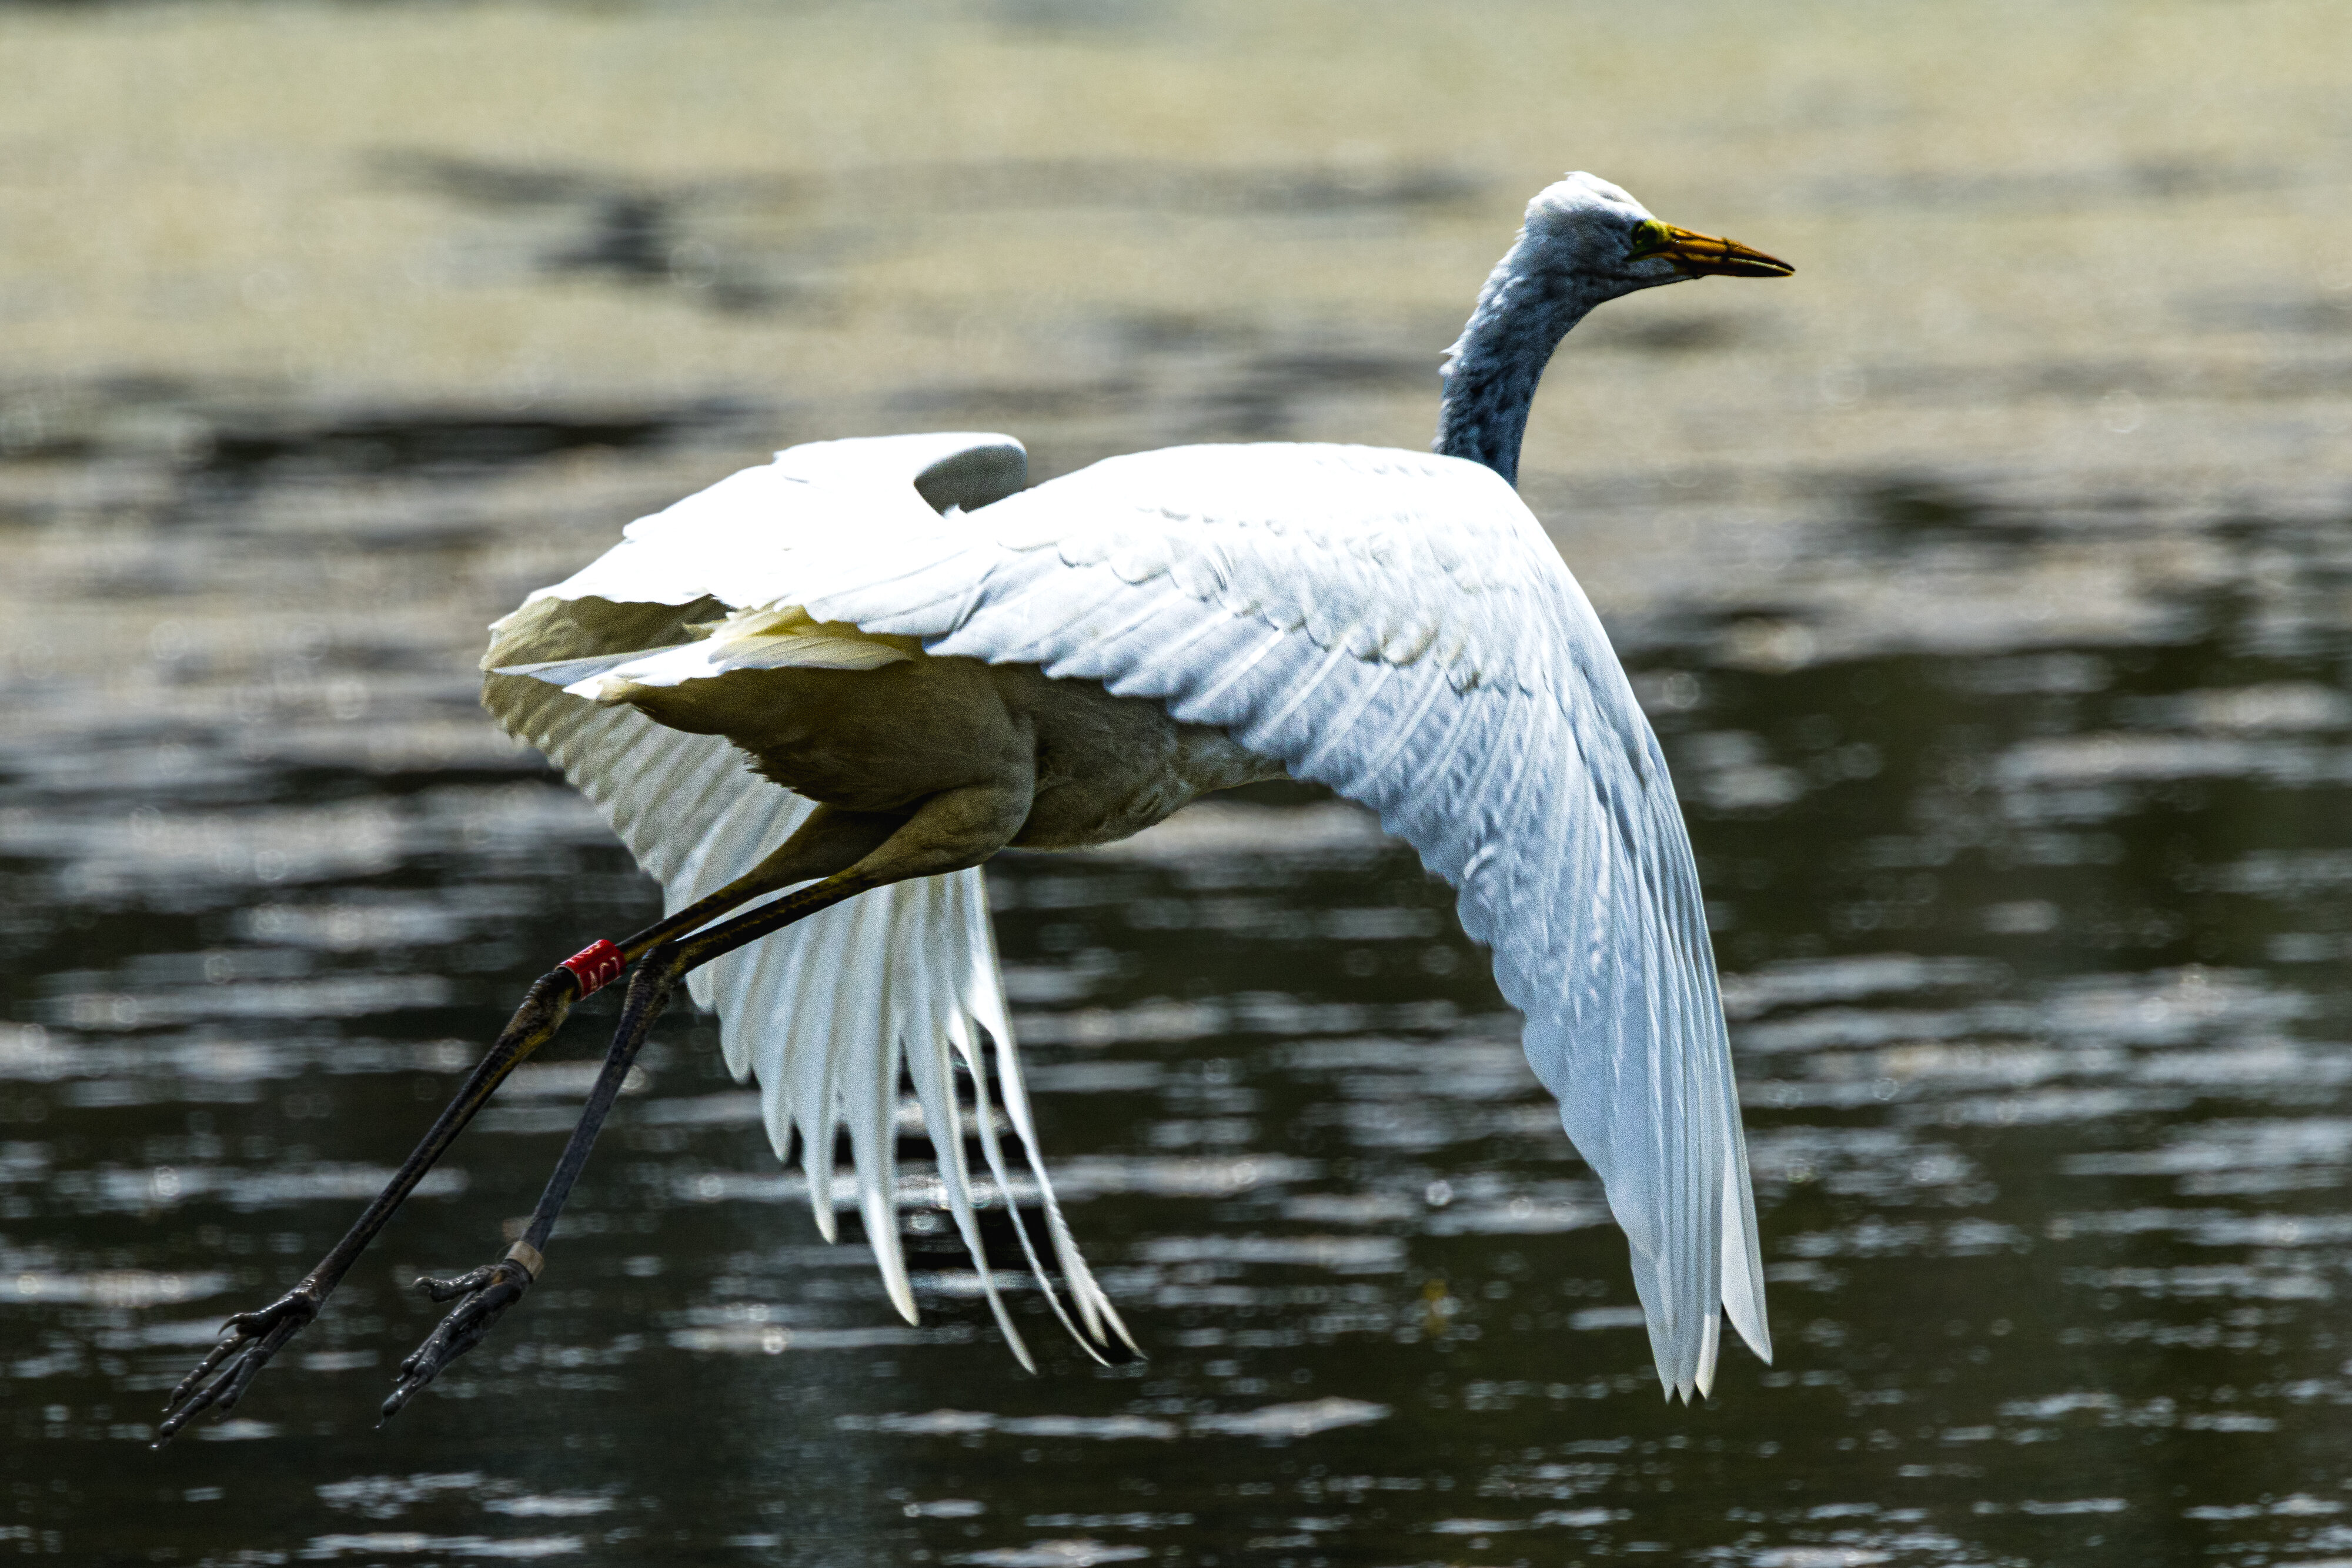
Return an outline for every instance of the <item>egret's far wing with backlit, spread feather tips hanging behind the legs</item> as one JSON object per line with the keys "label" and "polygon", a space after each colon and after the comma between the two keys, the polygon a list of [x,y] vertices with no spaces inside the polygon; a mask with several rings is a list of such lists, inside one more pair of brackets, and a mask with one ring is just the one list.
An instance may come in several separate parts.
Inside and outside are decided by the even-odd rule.
{"label": "egret's far wing with backlit, spread feather tips hanging behind the legs", "polygon": [[[602,668],[687,642],[689,621],[715,614],[713,599],[729,602],[699,585],[699,571],[713,552],[724,559],[731,529],[748,527],[767,541],[821,536],[840,522],[835,508],[856,510],[858,498],[866,510],[889,512],[887,503],[877,505],[877,491],[936,522],[924,494],[941,505],[983,503],[1021,482],[1021,447],[1007,437],[910,437],[858,447],[866,451],[849,496],[840,477],[811,482],[809,470],[826,475],[823,447],[814,449],[818,461],[800,470],[748,470],[630,524],[621,545],[572,581],[534,592],[492,628],[494,642],[482,658],[489,670],[485,708],[508,733],[543,750],[597,804],[637,865],[661,882],[673,912],[757,865],[800,827],[811,804],[755,776],[720,736],[663,729],[635,708],[567,696],[560,682],[548,684],[548,670],[536,677],[499,670],[546,661]],[[807,456],[811,449],[800,451]],[[915,1295],[894,1215],[901,1063],[938,1154],[941,1199],[1021,1361],[1030,1363],[1030,1354],[997,1300],[981,1251],[962,1143],[969,1119],[997,1192],[1011,1201],[995,1103],[1021,1133],[1056,1262],[1087,1335],[1096,1345],[1127,1338],[1070,1239],[1037,1154],[978,870],[875,889],[715,959],[689,973],[687,985],[699,1004],[717,1011],[727,1065],[739,1079],[757,1079],[779,1159],[788,1159],[797,1133],[809,1201],[828,1239],[835,1232],[835,1128],[849,1131],[866,1234],[889,1298],[908,1321],[915,1321]],[[955,1060],[969,1070],[971,1107],[957,1103]],[[1028,1246],[1028,1232],[1016,1229]],[[1030,1262],[1040,1260],[1030,1255]],[[1054,1300],[1049,1284],[1047,1293]]]}

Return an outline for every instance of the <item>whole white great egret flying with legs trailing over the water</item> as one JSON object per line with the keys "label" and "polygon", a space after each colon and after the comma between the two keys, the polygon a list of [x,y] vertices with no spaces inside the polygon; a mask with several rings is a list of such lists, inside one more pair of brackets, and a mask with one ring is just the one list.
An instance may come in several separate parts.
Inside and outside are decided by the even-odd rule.
{"label": "whole white great egret flying with legs trailing over the water", "polygon": [[1569,327],[1708,273],[1790,268],[1569,174],[1529,202],[1449,353],[1435,456],[1176,447],[1021,489],[1025,454],[1004,435],[816,442],[633,522],[534,592],[492,628],[482,701],[604,809],[670,914],[532,987],[334,1253],[228,1321],[162,1439],[238,1401],[492,1088],[628,964],[619,1032],[529,1229],[499,1262],[419,1281],[459,1305],[402,1363],[386,1415],[529,1291],[680,978],[717,1009],[736,1077],[757,1079],[776,1154],[800,1143],[828,1237],[847,1128],[898,1312],[915,1316],[894,1213],[903,1067],[1014,1354],[1030,1361],[964,1159],[969,1121],[1011,1201],[997,1105],[1068,1307],[1016,1225],[1047,1300],[1089,1349],[1124,1342],[1037,1159],[978,865],[1007,844],[1122,839],[1282,773],[1378,809],[1461,891],[1625,1229],[1668,1396],[1710,1389],[1717,1307],[1769,1359],[1715,959],[1665,759],[1512,491]]}

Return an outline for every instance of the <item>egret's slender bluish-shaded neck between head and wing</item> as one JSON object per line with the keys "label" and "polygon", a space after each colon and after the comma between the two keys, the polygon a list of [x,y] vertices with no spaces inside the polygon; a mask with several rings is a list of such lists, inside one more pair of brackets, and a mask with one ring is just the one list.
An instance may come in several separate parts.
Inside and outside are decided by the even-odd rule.
{"label": "egret's slender bluish-shaded neck between head and wing", "polygon": [[1477,310],[1439,371],[1446,390],[1435,451],[1484,463],[1512,484],[1543,367],[1569,327],[1606,299],[1571,259],[1545,254],[1557,244],[1519,235],[1479,289]]}

